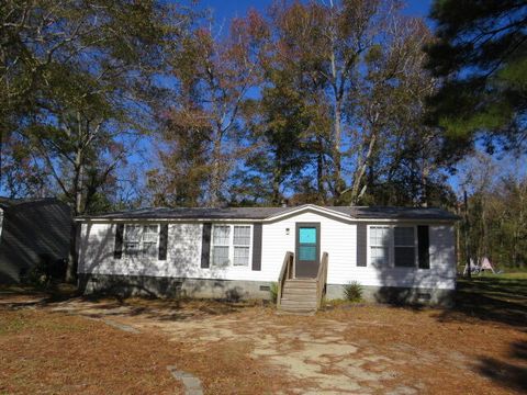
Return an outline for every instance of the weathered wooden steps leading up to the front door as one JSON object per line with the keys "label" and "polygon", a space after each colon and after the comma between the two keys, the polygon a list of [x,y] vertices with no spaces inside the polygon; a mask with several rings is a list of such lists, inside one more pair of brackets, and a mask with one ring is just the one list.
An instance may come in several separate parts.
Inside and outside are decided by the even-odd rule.
{"label": "weathered wooden steps leading up to the front door", "polygon": [[283,284],[278,311],[289,314],[315,314],[316,302],[316,279],[289,279]]}

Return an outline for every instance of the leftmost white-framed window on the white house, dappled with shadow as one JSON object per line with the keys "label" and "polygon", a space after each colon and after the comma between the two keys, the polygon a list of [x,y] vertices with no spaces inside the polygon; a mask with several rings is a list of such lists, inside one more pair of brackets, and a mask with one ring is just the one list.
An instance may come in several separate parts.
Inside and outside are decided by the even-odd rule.
{"label": "leftmost white-framed window on the white house, dappled with shadow", "polygon": [[124,253],[126,257],[157,258],[158,225],[126,225]]}

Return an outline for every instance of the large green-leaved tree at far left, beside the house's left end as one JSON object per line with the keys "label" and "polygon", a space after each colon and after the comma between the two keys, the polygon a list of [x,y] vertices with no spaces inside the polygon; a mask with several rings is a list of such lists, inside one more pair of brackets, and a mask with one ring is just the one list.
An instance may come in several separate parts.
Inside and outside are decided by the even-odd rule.
{"label": "large green-leaved tree at far left, beside the house's left end", "polygon": [[154,0],[2,7],[1,126],[13,169],[36,172],[74,215],[108,208],[128,151],[154,125],[153,82],[187,14]]}

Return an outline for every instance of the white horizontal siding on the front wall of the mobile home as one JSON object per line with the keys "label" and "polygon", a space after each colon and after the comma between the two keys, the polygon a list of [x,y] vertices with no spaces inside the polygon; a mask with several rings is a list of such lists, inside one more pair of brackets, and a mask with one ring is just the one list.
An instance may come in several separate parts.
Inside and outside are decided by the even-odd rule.
{"label": "white horizontal siding on the front wall of the mobile home", "polygon": [[[453,289],[456,264],[453,228],[450,225],[430,226],[430,269],[357,267],[357,226],[314,212],[303,212],[262,226],[261,271],[247,267],[201,268],[202,225],[199,223],[169,224],[168,256],[157,259],[113,258],[115,224],[82,224],[79,272],[122,275],[155,275],[192,279],[277,281],[285,251],[295,248],[295,223],[321,224],[321,253],[329,255],[328,283],[362,285],[421,286]],[[289,228],[289,235],[287,234]]]}

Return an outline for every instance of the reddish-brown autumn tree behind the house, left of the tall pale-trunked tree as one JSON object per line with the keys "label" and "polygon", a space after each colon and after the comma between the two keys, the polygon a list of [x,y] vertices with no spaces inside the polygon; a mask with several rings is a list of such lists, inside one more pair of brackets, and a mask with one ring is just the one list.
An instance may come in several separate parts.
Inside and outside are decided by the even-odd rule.
{"label": "reddish-brown autumn tree behind the house, left of the tall pale-trunked tree", "polygon": [[[205,161],[197,162],[201,167],[197,172],[199,178],[206,176],[206,183],[200,180],[192,187],[203,190],[192,191],[191,202],[201,196],[199,204],[218,206],[228,199],[226,181],[245,154],[240,110],[248,91],[260,79],[258,63],[267,35],[260,15],[250,12],[245,19],[233,20],[224,36],[214,36],[210,27],[197,26],[182,38],[171,59],[178,94],[169,117],[177,127],[165,132],[162,137],[169,147],[173,147],[172,142],[186,140],[205,150],[201,155]],[[200,133],[192,133],[194,128]],[[180,171],[177,160],[180,155],[175,154],[170,161],[162,157],[172,153],[161,154],[161,172],[169,178]],[[168,183],[164,193],[177,195],[179,192],[173,191],[177,187]]]}

